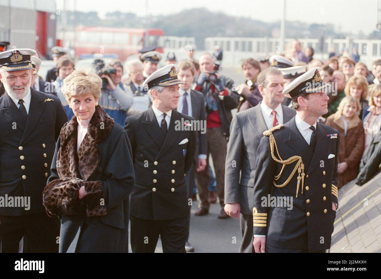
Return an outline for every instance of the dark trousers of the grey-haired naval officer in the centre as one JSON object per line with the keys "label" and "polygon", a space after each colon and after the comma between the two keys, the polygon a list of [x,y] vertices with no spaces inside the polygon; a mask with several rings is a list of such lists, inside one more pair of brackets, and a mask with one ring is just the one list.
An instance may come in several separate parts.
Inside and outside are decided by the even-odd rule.
{"label": "dark trousers of the grey-haired naval officer in the centre", "polygon": [[133,253],[154,253],[159,236],[164,253],[186,253],[189,216],[174,220],[144,220],[130,215]]}

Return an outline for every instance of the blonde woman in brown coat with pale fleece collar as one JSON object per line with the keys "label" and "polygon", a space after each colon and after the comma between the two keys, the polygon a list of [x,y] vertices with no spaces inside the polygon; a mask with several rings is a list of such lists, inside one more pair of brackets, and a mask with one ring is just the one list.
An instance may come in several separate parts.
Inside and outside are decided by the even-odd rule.
{"label": "blonde woman in brown coat with pale fleece collar", "polygon": [[359,163],[364,151],[364,128],[357,115],[359,100],[346,96],[341,100],[338,111],[325,122],[339,131],[338,188],[354,180],[359,172]]}

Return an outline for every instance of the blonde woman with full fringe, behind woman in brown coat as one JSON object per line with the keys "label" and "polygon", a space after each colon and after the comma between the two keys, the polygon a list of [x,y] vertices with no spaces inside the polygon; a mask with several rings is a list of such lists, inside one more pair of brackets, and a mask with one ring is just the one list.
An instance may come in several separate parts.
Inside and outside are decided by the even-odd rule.
{"label": "blonde woman with full fringe, behind woman in brown coat", "polygon": [[352,76],[345,85],[344,92],[346,96],[355,97],[360,102],[360,110],[357,112],[357,115],[362,117],[364,109],[369,106],[367,101],[367,79],[362,75]]}

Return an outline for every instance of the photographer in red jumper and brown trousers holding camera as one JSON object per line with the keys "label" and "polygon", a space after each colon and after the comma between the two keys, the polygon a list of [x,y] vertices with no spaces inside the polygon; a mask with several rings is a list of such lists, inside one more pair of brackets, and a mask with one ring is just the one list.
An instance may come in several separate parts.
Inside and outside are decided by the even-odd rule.
{"label": "photographer in red jumper and brown trousers holding camera", "polygon": [[[206,101],[207,155],[209,157],[209,153],[211,154],[216,173],[216,186],[221,205],[218,218],[229,218],[229,215],[224,211],[225,158],[227,138],[229,138],[229,128],[232,121],[231,110],[238,106],[238,96],[232,92],[233,80],[218,74],[219,64],[215,63],[215,56],[210,53],[203,53],[199,63],[201,73],[197,79],[195,90],[202,92]],[[197,178],[197,190],[200,196],[200,204],[195,215],[207,215],[210,207],[208,202],[209,166],[207,165],[205,170],[196,175],[199,176]]]}

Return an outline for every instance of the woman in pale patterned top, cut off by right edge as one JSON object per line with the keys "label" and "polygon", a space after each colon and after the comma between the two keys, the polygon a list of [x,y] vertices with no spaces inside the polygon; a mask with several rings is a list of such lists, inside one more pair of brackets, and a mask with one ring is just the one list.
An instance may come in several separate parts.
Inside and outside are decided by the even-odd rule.
{"label": "woman in pale patterned top, cut off by right edge", "polygon": [[375,85],[369,97],[369,106],[364,109],[362,122],[365,128],[365,148],[381,130],[381,84]]}

